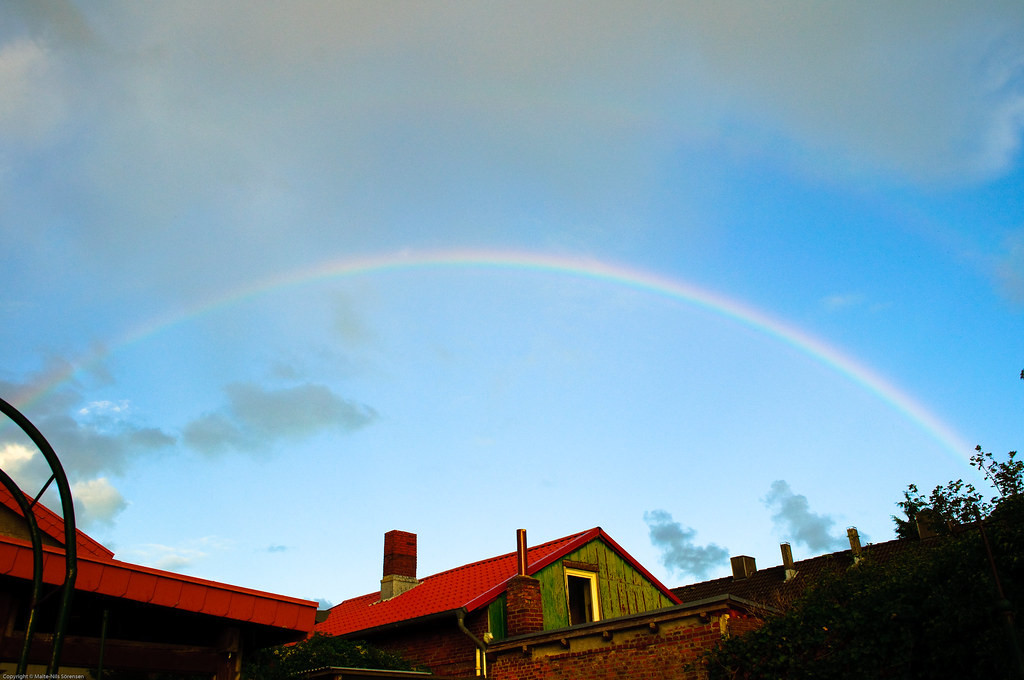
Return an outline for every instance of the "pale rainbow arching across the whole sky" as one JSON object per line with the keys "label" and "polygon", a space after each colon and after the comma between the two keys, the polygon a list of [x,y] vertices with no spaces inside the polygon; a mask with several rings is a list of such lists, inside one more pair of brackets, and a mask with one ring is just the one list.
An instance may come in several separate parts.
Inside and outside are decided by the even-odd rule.
{"label": "pale rainbow arching across the whole sky", "polygon": [[[151,318],[129,331],[117,342],[112,343],[110,349],[94,351],[92,356],[85,362],[79,362],[78,366],[84,367],[98,362],[102,356],[110,354],[120,346],[142,341],[169,327],[211,314],[219,309],[265,295],[271,291],[306,286],[319,281],[384,274],[391,271],[459,267],[539,271],[593,280],[664,296],[707,310],[791,345],[812,359],[845,376],[903,414],[955,458],[966,460],[972,451],[972,448],[951,428],[889,380],[841,350],[750,305],[678,279],[621,264],[611,264],[590,258],[526,251],[471,249],[402,251],[322,262],[309,268],[286,272],[243,286],[200,304]],[[75,372],[75,369],[71,369],[59,375],[50,376],[50,379],[45,381],[45,386],[38,388],[33,394],[20,395],[16,402],[24,405],[38,398],[58,382],[71,378]]]}

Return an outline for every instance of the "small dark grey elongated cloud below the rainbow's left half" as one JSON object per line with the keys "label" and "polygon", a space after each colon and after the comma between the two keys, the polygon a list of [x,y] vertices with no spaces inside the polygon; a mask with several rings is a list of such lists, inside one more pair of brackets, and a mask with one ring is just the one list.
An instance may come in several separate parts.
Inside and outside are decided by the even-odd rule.
{"label": "small dark grey elongated cloud below the rainbow's left half", "polygon": [[372,423],[376,412],[335,394],[329,387],[302,384],[267,389],[251,383],[225,388],[227,403],[188,423],[185,444],[204,454],[265,451],[280,439],[325,430],[348,432]]}

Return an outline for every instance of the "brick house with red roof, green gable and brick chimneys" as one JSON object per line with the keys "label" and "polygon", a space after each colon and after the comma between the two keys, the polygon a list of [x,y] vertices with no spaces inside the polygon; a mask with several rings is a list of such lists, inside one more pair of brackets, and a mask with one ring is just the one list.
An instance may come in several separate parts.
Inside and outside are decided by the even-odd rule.
{"label": "brick house with red roof, green gable and brick chimneys", "polygon": [[695,677],[708,645],[759,625],[741,598],[681,605],[600,527],[423,579],[417,537],[384,536],[381,588],[315,631],[365,640],[450,678]]}

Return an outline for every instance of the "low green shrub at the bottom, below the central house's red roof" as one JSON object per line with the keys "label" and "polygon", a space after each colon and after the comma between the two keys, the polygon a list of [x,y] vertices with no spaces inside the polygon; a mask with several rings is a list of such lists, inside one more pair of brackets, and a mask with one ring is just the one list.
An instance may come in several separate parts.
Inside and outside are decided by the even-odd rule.
{"label": "low green shrub at the bottom, below the central house's red roof", "polygon": [[373,668],[414,671],[398,654],[371,647],[366,642],[315,633],[302,642],[260,649],[242,671],[247,680],[286,680],[318,668]]}

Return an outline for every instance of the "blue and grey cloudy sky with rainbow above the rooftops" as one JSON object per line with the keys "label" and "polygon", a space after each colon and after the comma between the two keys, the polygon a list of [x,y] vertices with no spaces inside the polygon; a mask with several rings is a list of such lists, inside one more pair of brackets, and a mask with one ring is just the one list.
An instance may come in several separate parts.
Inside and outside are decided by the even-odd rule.
{"label": "blue and grey cloudy sky with rainbow above the rooftops", "polygon": [[888,541],[1024,441],[1022,136],[1016,0],[5,2],[0,396],[118,558],[325,603]]}

